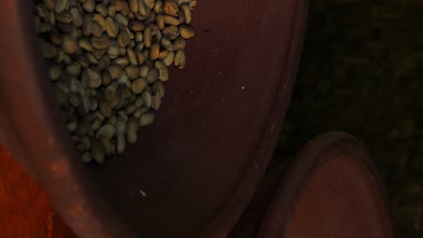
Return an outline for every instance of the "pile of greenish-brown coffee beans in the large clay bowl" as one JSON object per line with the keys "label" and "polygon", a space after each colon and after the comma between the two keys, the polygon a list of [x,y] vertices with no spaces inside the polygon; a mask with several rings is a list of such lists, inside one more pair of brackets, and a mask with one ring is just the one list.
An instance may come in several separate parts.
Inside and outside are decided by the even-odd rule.
{"label": "pile of greenish-brown coffee beans in the large clay bowl", "polygon": [[39,45],[83,162],[104,163],[155,121],[167,68],[185,66],[196,0],[39,0]]}

